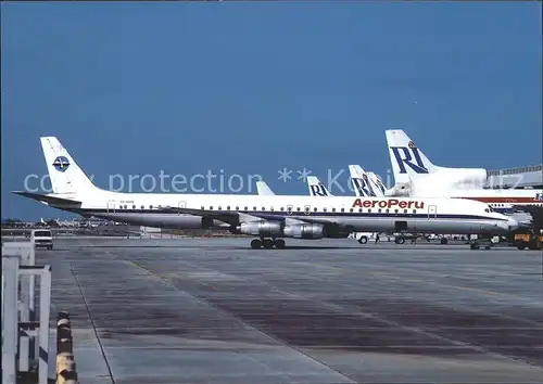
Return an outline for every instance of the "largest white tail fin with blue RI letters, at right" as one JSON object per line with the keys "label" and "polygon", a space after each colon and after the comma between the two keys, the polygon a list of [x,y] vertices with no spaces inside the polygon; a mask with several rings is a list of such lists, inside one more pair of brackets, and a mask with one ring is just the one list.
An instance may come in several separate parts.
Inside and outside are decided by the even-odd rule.
{"label": "largest white tail fin with blue RI letters, at right", "polygon": [[401,129],[386,131],[390,162],[395,183],[408,183],[409,177],[432,174],[438,170],[422,151]]}

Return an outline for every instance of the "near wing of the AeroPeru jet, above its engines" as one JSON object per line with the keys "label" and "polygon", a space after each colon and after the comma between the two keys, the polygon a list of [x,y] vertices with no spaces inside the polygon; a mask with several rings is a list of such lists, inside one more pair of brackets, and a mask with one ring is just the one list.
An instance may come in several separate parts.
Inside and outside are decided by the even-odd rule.
{"label": "near wing of the AeroPeru jet, above its engines", "polygon": [[293,215],[289,215],[287,213],[257,213],[257,214],[245,214],[238,212],[217,212],[217,210],[207,210],[207,209],[194,209],[194,208],[181,208],[181,207],[168,207],[168,209],[176,212],[178,214],[193,215],[193,216],[205,216],[211,217],[215,220],[228,222],[232,226],[238,226],[241,222],[250,222],[250,221],[260,221],[260,220],[278,220],[278,221],[299,221],[299,222],[314,222],[314,223],[337,223],[333,219],[326,218],[314,218],[311,216],[305,216],[302,213],[296,213],[294,217]]}

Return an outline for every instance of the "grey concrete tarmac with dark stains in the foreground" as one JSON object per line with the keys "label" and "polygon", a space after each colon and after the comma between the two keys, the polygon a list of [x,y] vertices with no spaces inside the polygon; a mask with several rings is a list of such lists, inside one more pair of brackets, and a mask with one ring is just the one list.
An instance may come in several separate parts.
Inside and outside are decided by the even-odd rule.
{"label": "grey concrete tarmac with dark stains in the foreground", "polygon": [[51,327],[71,312],[80,382],[543,381],[540,252],[249,242],[58,239],[38,251],[52,266]]}

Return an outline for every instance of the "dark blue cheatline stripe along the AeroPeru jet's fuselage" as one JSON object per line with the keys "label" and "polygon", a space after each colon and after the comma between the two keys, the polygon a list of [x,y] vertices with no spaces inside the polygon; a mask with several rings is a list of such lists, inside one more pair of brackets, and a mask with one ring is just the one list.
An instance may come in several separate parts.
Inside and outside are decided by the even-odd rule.
{"label": "dark blue cheatline stripe along the AeroPeru jet's fuselage", "polygon": [[[78,212],[81,214],[92,215],[92,214],[154,214],[154,215],[179,215],[178,213],[172,212],[171,209],[73,209],[74,212]],[[213,215],[220,215],[226,213],[236,213],[236,210],[213,210]],[[493,218],[478,215],[449,215],[449,214],[438,214],[438,215],[429,215],[425,214],[404,214],[404,213],[359,213],[359,212],[311,212],[306,215],[303,210],[301,212],[292,212],[292,215],[288,215],[287,212],[269,212],[269,210],[239,210],[239,213],[255,215],[262,218],[276,218],[277,216],[289,217],[289,216],[299,216],[299,217],[345,217],[345,218],[369,218],[369,217],[384,217],[384,218],[435,218],[435,219],[473,219],[473,220],[501,220],[507,221],[506,218]],[[210,215],[210,210],[203,212],[201,216]],[[198,215],[192,215],[198,216]]]}

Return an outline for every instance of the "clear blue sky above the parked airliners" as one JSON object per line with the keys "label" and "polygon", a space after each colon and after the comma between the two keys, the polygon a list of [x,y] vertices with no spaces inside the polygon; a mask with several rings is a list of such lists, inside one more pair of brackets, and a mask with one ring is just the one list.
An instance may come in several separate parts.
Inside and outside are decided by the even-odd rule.
{"label": "clear blue sky above the parked airliners", "polygon": [[305,166],[326,181],[361,164],[387,175],[388,128],[439,165],[542,159],[539,2],[1,11],[2,217],[65,217],[9,193],[46,174],[40,136],[56,136],[100,187],[112,174],[224,169],[305,194],[277,170]]}

